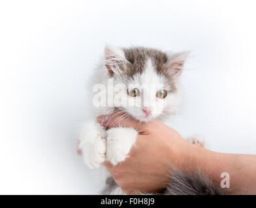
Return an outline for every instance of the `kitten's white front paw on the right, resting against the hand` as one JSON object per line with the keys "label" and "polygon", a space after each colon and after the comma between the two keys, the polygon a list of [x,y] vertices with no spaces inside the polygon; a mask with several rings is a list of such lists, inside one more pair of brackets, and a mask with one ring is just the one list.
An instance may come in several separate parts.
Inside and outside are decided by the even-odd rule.
{"label": "kitten's white front paw on the right, resting against the hand", "polygon": [[106,131],[106,160],[116,165],[124,161],[135,144],[137,131],[133,128],[118,127]]}

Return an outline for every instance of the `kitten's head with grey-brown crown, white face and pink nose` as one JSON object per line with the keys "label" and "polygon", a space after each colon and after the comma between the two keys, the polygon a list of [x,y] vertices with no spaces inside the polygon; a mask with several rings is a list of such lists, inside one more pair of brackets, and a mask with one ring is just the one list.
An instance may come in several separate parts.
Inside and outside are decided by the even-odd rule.
{"label": "kitten's head with grey-brown crown, white face and pink nose", "polygon": [[180,105],[179,77],[188,54],[106,46],[108,76],[115,84],[125,86],[118,92],[125,101],[119,109],[142,122],[174,114]]}

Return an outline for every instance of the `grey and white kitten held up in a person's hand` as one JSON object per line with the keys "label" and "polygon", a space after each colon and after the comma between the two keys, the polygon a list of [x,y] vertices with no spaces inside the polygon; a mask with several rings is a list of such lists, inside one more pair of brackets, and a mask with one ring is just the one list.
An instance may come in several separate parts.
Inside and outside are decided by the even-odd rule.
{"label": "grey and white kitten held up in a person's hand", "polygon": [[[124,112],[123,118],[164,122],[177,112],[182,98],[180,75],[188,54],[163,53],[145,47],[105,47],[104,60],[89,83],[93,89],[88,98],[93,103],[79,135],[78,148],[82,150],[89,168],[99,168],[104,161],[114,165],[124,161],[138,134],[135,129],[128,127],[105,130],[96,122],[100,114],[112,116]],[[204,146],[200,138],[191,137],[189,141]],[[210,180],[199,175],[190,176],[176,170],[176,174],[172,174],[173,183],[167,187],[165,194],[200,194],[201,189],[204,193],[217,194]],[[191,184],[189,180],[197,180],[197,184],[200,184],[199,187],[190,188],[193,192],[185,190],[187,183]],[[175,183],[178,183],[180,191]],[[103,193],[123,194],[110,174]]]}

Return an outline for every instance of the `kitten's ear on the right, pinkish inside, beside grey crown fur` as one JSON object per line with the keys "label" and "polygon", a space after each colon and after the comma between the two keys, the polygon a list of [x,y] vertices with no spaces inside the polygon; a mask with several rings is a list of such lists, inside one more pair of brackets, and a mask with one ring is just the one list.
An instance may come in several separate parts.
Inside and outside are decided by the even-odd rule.
{"label": "kitten's ear on the right, pinkish inside, beside grey crown fur", "polygon": [[182,73],[185,60],[187,60],[189,53],[189,51],[184,51],[180,53],[168,53],[167,64],[173,75],[180,75]]}

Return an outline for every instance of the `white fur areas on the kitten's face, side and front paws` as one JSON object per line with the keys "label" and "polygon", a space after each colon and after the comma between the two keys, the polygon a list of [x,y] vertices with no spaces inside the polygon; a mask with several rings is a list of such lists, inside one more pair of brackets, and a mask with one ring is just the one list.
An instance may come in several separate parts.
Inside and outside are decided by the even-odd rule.
{"label": "white fur areas on the kitten's face, side and front paws", "polygon": [[[136,75],[132,80],[123,80],[120,76],[110,77],[110,73],[105,67],[110,67],[114,73],[121,74],[120,64],[126,64],[124,53],[121,49],[116,49],[113,47],[105,48],[104,62],[101,62],[97,70],[95,70],[93,77],[88,82],[88,94],[87,99],[90,104],[87,109],[88,122],[83,123],[80,129],[79,135],[79,149],[82,150],[84,154],[84,161],[89,166],[89,168],[99,168],[104,161],[110,161],[113,165],[122,162],[128,157],[129,151],[136,142],[137,131],[132,128],[127,127],[116,127],[108,129],[105,131],[101,125],[96,121],[96,117],[101,114],[109,114],[113,112],[114,107],[95,107],[92,105],[93,100],[93,86],[96,84],[103,84],[107,86],[108,79],[114,82],[114,85],[118,84],[129,84],[137,85],[136,87],[141,90],[141,96],[138,98],[132,98],[127,96],[127,89],[121,89],[121,96],[131,101],[131,103],[141,103],[138,107],[121,107],[129,116],[133,116],[137,120],[142,122],[149,122],[150,120],[157,118],[169,118],[171,114],[177,112],[180,107],[180,101],[182,98],[182,93],[180,90],[178,92],[172,93],[171,89],[167,85],[167,80],[165,77],[157,75],[155,69],[153,68],[152,60],[148,59],[146,62],[146,69],[141,75]],[[153,84],[154,88],[143,88],[142,86],[146,84]],[[176,86],[180,89],[178,78],[176,80]],[[127,86],[128,87],[128,86]],[[156,98],[155,94],[159,89],[168,90],[167,98],[159,99]],[[148,94],[148,97],[142,97],[144,94]],[[142,109],[145,105],[149,104],[152,109],[152,114],[150,116],[145,116]],[[112,194],[123,194],[121,188],[118,187],[112,191]]]}

